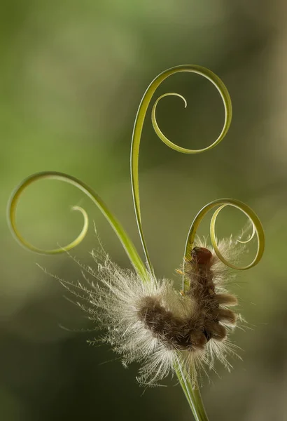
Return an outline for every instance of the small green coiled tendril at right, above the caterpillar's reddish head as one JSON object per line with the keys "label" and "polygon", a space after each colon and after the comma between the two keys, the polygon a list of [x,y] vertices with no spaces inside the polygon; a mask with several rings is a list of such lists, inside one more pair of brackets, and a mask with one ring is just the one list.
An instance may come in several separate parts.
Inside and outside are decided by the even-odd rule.
{"label": "small green coiled tendril at right, above the caterpillar's reddish head", "polygon": [[[193,249],[193,244],[194,244],[194,241],[195,241],[195,235],[196,235],[197,229],[200,225],[200,222],[202,222],[204,216],[209,212],[209,210],[211,210],[213,208],[216,208],[217,206],[220,206],[220,207],[218,209],[216,209],[216,211],[214,212],[214,215],[211,218],[211,222],[210,222],[211,244],[214,248],[214,251],[215,251],[216,255],[221,260],[221,262],[223,262],[226,266],[228,266],[232,269],[246,270],[246,269],[250,269],[251,267],[254,267],[261,260],[263,252],[264,252],[264,247],[265,247],[264,230],[263,230],[262,224],[260,222],[260,219],[258,218],[256,213],[251,208],[249,208],[249,206],[246,205],[246,203],[241,202],[241,201],[236,200],[236,199],[217,199],[217,200],[214,200],[211,203],[208,203],[206,206],[204,206],[200,210],[200,212],[197,213],[195,219],[193,220],[193,223],[190,226],[190,230],[188,232],[188,238],[186,240],[186,249],[185,249],[185,253],[184,253],[184,256],[185,256],[184,262],[186,260],[190,260],[190,251]],[[253,239],[253,236],[255,234],[257,236],[258,245],[257,245],[256,255],[255,255],[255,258],[253,259],[253,261],[249,265],[246,265],[246,266],[233,265],[232,262],[228,262],[228,260],[226,260],[223,257],[220,250],[218,249],[218,244],[217,244],[217,240],[216,240],[216,229],[215,229],[216,228],[216,218],[218,217],[218,213],[220,213],[221,210],[223,208],[225,208],[225,206],[233,206],[234,208],[237,208],[237,209],[241,210],[241,212],[243,212],[247,216],[247,218],[249,220],[251,220],[251,222],[252,222],[253,233],[251,234],[251,238],[248,239],[247,241],[237,240],[240,243],[248,243],[248,241],[251,241],[251,239]],[[185,263],[183,263],[183,265],[184,264]],[[183,275],[183,292],[186,291],[186,288],[188,288],[188,283],[184,279],[184,275]]]}

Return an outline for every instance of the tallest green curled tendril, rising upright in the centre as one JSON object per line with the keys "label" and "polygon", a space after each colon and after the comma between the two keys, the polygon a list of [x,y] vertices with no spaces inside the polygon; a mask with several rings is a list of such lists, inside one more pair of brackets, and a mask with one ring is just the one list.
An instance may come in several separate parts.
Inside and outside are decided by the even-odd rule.
{"label": "tallest green curled tendril, rising upright in the centre", "polygon": [[144,238],[144,232],[141,224],[141,209],[140,209],[140,201],[139,201],[139,146],[141,142],[141,133],[144,126],[144,120],[146,117],[146,112],[148,110],[148,105],[151,102],[151,98],[153,97],[153,94],[155,93],[156,89],[160,84],[167,79],[167,77],[172,76],[172,74],[180,73],[180,72],[191,72],[200,74],[201,76],[204,76],[204,78],[211,81],[211,83],[216,86],[218,92],[221,95],[221,98],[223,100],[223,105],[225,109],[225,121],[223,124],[223,129],[221,131],[221,134],[218,136],[218,138],[208,147],[205,147],[203,149],[186,149],[184,147],[180,147],[178,145],[175,145],[173,142],[171,142],[169,139],[166,138],[166,136],[160,131],[160,128],[158,126],[158,123],[155,118],[155,111],[156,107],[158,105],[158,102],[165,98],[168,95],[175,95],[181,98],[184,102],[185,107],[187,107],[186,99],[180,95],[179,93],[165,93],[164,95],[161,95],[160,98],[158,98],[155,101],[155,104],[153,105],[153,109],[151,112],[151,119],[153,123],[153,128],[155,129],[155,133],[158,135],[160,140],[165,143],[165,145],[171,147],[172,149],[176,150],[177,152],[182,152],[183,154],[200,154],[201,152],[206,152],[209,149],[212,149],[216,145],[218,145],[221,140],[225,137],[226,133],[228,133],[228,128],[230,127],[231,119],[232,119],[232,105],[230,100],[230,95],[228,93],[228,90],[226,86],[224,85],[223,81],[219,79],[216,74],[211,72],[211,70],[206,69],[202,66],[197,65],[182,65],[177,67],[172,67],[171,69],[165,70],[165,72],[162,72],[159,74],[148,86],[148,89],[146,90],[146,93],[144,94],[144,97],[141,100],[141,103],[139,105],[139,109],[137,112],[137,117],[134,122],[134,131],[132,134],[132,147],[131,147],[131,182],[132,182],[132,196],[134,199],[134,210],[136,214],[137,219],[137,226],[139,228],[139,236],[141,238],[141,243],[144,248],[144,253],[146,255],[146,262],[148,265],[148,268],[152,271],[152,265],[151,265],[151,259],[148,255],[148,248],[146,246],[146,240]]}

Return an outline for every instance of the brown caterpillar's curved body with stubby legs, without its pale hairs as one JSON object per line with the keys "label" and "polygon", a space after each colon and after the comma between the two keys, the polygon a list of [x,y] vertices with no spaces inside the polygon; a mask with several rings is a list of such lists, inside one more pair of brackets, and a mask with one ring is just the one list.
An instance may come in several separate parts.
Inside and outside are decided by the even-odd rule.
{"label": "brown caterpillar's curved body with stubby legs, without its pale hairs", "polygon": [[204,349],[209,340],[226,338],[227,330],[223,325],[235,325],[235,312],[224,307],[237,305],[237,298],[216,293],[214,262],[211,251],[204,247],[193,248],[191,260],[186,262],[185,274],[190,282],[186,295],[192,302],[190,314],[184,317],[173,314],[156,296],[141,300],[139,319],[169,349]]}

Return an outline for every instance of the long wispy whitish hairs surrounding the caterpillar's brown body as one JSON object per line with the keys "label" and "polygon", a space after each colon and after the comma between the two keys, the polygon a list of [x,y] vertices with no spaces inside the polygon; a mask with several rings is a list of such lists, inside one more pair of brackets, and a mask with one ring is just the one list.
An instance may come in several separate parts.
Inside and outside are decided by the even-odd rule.
{"label": "long wispy whitish hairs surrounding the caterpillar's brown body", "polygon": [[[205,239],[197,239],[197,246],[206,245]],[[233,261],[237,260],[239,253],[235,246],[238,243],[232,238],[218,244],[221,253]],[[224,285],[230,283],[234,273],[218,259],[212,248],[209,249],[212,253],[215,293],[226,294],[228,291]],[[190,314],[196,311],[195,302],[181,295],[174,288],[173,281],[158,280],[151,272],[148,273],[148,280],[143,281],[133,269],[122,269],[116,265],[103,249],[93,250],[91,254],[97,262],[97,269],[81,265],[86,285],[59,281],[74,295],[85,300],[85,304],[77,304],[94,321],[95,328],[104,331],[104,335],[96,342],[111,345],[113,351],[122,357],[124,366],[133,361],[141,363],[137,377],[141,385],[157,385],[169,373],[174,373],[179,364],[183,367],[182,375],[187,376],[193,385],[198,382],[202,371],[207,373],[207,368],[214,368],[216,359],[226,368],[231,368],[227,356],[230,353],[236,355],[237,347],[230,342],[228,335],[221,341],[211,338],[203,349],[170,347],[139,316],[144,300],[153,298],[175,319],[190,318]],[[94,280],[90,281],[87,274]],[[221,324],[228,332],[235,327],[226,321],[221,321]]]}

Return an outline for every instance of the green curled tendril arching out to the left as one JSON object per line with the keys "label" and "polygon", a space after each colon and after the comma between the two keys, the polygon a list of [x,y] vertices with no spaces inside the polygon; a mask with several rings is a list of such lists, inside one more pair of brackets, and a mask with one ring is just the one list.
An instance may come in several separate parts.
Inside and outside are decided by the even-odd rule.
{"label": "green curled tendril arching out to the left", "polygon": [[109,221],[111,227],[116,232],[118,238],[120,239],[120,242],[123,245],[123,248],[125,249],[127,256],[130,258],[130,261],[132,262],[132,265],[134,265],[134,268],[137,270],[139,275],[142,279],[146,279],[147,272],[146,267],[144,263],[142,262],[141,258],[139,257],[139,254],[137,253],[136,248],[134,247],[134,244],[130,240],[129,236],[127,236],[127,233],[123,229],[122,225],[118,220],[115,218],[113,213],[109,210],[109,208],[106,206],[106,203],[102,201],[102,199],[97,195],[96,192],[94,192],[93,189],[91,189],[88,185],[86,185],[84,182],[78,180],[75,177],[72,177],[71,175],[67,175],[64,173],[58,173],[56,171],[44,171],[42,173],[36,173],[33,175],[30,175],[28,178],[23,180],[21,184],[15,189],[15,192],[13,192],[10,201],[8,203],[8,222],[10,225],[10,229],[13,232],[15,239],[25,248],[28,248],[31,251],[34,251],[36,253],[41,254],[59,254],[63,253],[67,250],[71,250],[71,248],[77,246],[81,241],[83,241],[85,234],[87,233],[88,228],[88,217],[87,213],[83,208],[80,208],[78,206],[74,206],[73,210],[79,210],[83,214],[84,218],[84,224],[83,229],[81,230],[80,234],[77,236],[75,240],[73,240],[71,243],[67,244],[66,246],[62,248],[55,248],[52,250],[43,250],[41,248],[37,248],[33,246],[31,243],[29,243],[27,240],[24,239],[24,237],[20,234],[18,227],[16,225],[16,210],[18,201],[20,199],[20,196],[24,190],[31,185],[32,183],[43,180],[43,179],[49,179],[49,180],[61,180],[64,182],[67,182],[78,189],[80,189],[82,192],[84,192],[99,208],[99,210],[102,211],[106,219]]}

